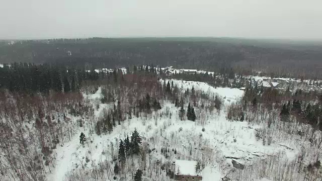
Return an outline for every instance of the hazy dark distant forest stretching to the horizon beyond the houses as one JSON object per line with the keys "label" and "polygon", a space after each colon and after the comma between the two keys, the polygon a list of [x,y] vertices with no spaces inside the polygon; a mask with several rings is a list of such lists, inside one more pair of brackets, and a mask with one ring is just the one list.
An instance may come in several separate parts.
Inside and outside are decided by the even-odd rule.
{"label": "hazy dark distant forest stretching to the horizon beyond the houses", "polygon": [[[92,69],[133,64],[322,77],[322,45],[216,38],[90,38],[2,42],[0,62],[63,63]],[[254,73],[254,72],[253,72]]]}

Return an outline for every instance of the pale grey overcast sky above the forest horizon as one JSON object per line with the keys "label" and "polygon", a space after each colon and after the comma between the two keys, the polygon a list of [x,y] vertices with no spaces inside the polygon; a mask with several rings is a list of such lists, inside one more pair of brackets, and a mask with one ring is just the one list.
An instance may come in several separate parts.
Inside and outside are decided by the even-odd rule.
{"label": "pale grey overcast sky above the forest horizon", "polygon": [[0,0],[0,39],[322,39],[320,0]]}

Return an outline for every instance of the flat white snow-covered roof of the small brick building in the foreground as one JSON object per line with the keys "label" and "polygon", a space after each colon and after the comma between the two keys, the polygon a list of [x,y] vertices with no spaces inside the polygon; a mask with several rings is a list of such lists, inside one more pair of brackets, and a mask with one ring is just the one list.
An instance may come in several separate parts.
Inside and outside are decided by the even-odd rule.
{"label": "flat white snow-covered roof of the small brick building in the foreground", "polygon": [[196,173],[197,161],[176,160],[176,174],[197,176]]}

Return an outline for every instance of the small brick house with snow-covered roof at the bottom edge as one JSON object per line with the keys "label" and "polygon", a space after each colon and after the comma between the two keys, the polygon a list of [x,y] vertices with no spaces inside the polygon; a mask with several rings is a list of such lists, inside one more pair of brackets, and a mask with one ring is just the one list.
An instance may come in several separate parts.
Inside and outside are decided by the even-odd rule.
{"label": "small brick house with snow-covered roof at the bottom edge", "polygon": [[175,180],[202,180],[201,170],[196,169],[197,161],[176,160]]}

